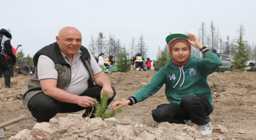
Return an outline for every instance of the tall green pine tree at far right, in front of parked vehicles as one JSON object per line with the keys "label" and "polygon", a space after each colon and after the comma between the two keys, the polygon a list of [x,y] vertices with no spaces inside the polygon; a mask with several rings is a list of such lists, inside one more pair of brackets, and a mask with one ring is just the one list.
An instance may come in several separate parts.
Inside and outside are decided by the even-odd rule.
{"label": "tall green pine tree at far right, in front of parked vehicles", "polygon": [[243,70],[246,67],[246,61],[249,60],[248,52],[246,51],[246,45],[244,43],[243,37],[244,37],[244,26],[241,24],[238,32],[238,37],[236,38],[236,44],[234,45],[236,48],[235,56],[234,56],[234,68],[238,70]]}

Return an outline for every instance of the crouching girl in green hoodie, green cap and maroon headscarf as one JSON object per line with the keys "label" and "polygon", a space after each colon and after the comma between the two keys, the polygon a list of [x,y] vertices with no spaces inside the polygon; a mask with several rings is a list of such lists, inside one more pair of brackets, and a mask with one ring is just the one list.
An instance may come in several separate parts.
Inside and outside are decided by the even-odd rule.
{"label": "crouching girl in green hoodie, green cap and maroon headscarf", "polygon": [[[153,119],[189,126],[195,123],[201,134],[212,134],[209,118],[213,111],[212,90],[207,76],[221,66],[222,61],[206,46],[202,46],[194,34],[170,34],[166,37],[166,43],[172,56],[169,63],[144,88],[125,101],[114,102],[112,110],[142,102],[165,84],[165,95],[170,103],[160,104],[152,110]],[[190,54],[191,45],[202,52],[204,60]]]}

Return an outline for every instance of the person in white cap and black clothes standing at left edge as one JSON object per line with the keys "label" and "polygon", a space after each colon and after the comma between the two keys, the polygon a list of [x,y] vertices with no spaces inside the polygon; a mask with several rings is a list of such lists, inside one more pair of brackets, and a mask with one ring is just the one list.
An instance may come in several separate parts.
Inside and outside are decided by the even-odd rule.
{"label": "person in white cap and black clothes standing at left edge", "polygon": [[12,35],[10,33],[10,28],[8,26],[3,26],[0,30],[0,67],[2,69],[2,72],[4,72],[5,88],[12,88],[10,86],[10,69],[5,54],[8,54],[8,56],[12,58],[14,64],[16,63],[16,56],[12,53],[11,39]]}

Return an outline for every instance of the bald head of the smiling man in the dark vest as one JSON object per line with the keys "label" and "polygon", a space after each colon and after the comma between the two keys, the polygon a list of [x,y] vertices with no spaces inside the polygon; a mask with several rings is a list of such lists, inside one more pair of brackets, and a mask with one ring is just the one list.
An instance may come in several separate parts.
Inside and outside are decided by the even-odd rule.
{"label": "bald head of the smiling man in the dark vest", "polygon": [[78,52],[82,44],[81,33],[73,27],[62,28],[56,36],[60,51],[69,58]]}

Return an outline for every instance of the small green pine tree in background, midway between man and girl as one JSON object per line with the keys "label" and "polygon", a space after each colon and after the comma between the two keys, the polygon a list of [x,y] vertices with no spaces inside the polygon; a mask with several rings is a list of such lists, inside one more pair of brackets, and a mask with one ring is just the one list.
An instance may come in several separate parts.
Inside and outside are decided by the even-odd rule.
{"label": "small green pine tree in background, midway between man and girl", "polygon": [[118,54],[118,64],[117,69],[118,72],[128,72],[130,70],[130,60],[128,59],[128,54],[126,52],[126,48],[122,48],[123,51],[121,51]]}

